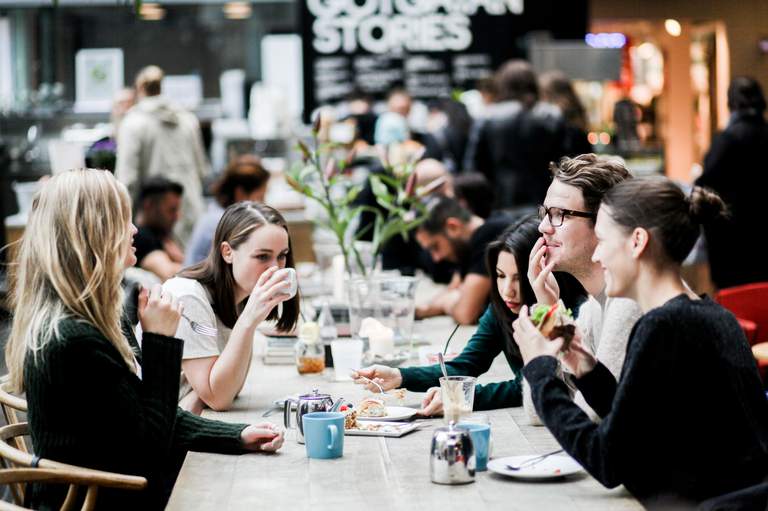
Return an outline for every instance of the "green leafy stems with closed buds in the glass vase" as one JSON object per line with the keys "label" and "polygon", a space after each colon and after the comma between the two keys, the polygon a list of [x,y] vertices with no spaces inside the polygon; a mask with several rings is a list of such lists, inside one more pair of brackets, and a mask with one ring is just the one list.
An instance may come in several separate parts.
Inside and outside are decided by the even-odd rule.
{"label": "green leafy stems with closed buds in the glass vase", "polygon": [[[298,142],[301,160],[287,173],[287,181],[295,190],[317,202],[327,218],[315,219],[317,225],[334,234],[344,256],[346,270],[352,273],[352,264],[368,275],[369,268],[362,260],[355,242],[372,229],[372,249],[375,256],[394,236],[406,238],[426,218],[425,208],[415,193],[417,158],[392,165],[382,158],[384,171],[367,178],[380,208],[356,202],[363,185],[354,184],[348,170],[355,158],[354,151],[342,146],[321,143],[318,126],[312,131],[312,147]],[[374,215],[373,223],[358,228],[357,220],[363,212]]]}

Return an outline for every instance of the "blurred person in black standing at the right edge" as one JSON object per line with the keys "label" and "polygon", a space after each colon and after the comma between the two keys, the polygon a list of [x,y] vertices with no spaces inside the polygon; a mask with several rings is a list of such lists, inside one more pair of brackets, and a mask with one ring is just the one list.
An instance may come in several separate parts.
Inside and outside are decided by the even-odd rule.
{"label": "blurred person in black standing at the right edge", "polygon": [[762,258],[744,257],[735,249],[754,239],[763,224],[768,124],[760,84],[753,78],[735,78],[728,88],[728,108],[728,126],[712,140],[704,172],[696,180],[698,186],[715,190],[730,210],[730,217],[704,228],[712,281],[720,289],[768,281]]}

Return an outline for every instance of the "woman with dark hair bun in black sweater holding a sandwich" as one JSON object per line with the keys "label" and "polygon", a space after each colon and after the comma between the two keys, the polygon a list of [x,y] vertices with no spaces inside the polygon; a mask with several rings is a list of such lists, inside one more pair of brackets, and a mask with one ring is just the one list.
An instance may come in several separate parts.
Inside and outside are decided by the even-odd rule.
{"label": "woman with dark hair bun in black sweater holding a sandwich", "polygon": [[[714,192],[696,187],[687,197],[663,178],[628,180],[604,197],[592,259],[606,294],[644,313],[618,382],[578,340],[560,353],[562,342],[544,339],[525,310],[514,325],[544,424],[592,476],[625,485],[646,507],[685,509],[768,475],[768,401],[744,334],[680,276],[701,226],[724,214]],[[568,401],[558,359],[600,424]]]}

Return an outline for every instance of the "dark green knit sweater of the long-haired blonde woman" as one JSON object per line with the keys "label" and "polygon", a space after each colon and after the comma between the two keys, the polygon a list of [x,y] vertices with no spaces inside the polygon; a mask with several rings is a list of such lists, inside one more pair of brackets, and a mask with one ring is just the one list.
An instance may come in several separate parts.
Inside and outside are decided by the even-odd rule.
{"label": "dark green knit sweater of the long-haired blonde woman", "polygon": [[[245,424],[203,419],[178,408],[183,342],[145,333],[137,350],[142,377],[130,371],[96,328],[75,319],[37,357],[27,356],[24,385],[35,454],[144,476],[142,492],[101,490],[99,509],[162,509],[187,450],[244,452]],[[35,485],[27,504],[58,509],[64,488]]]}

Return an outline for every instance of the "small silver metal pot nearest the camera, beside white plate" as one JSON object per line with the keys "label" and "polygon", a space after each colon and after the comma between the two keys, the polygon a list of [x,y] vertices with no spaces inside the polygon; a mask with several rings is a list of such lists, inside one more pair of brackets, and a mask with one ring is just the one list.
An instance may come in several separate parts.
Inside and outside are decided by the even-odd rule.
{"label": "small silver metal pot nearest the camera, beside white plate", "polygon": [[475,481],[475,464],[475,449],[469,430],[457,428],[453,421],[448,427],[435,430],[429,459],[433,483],[472,483]]}

